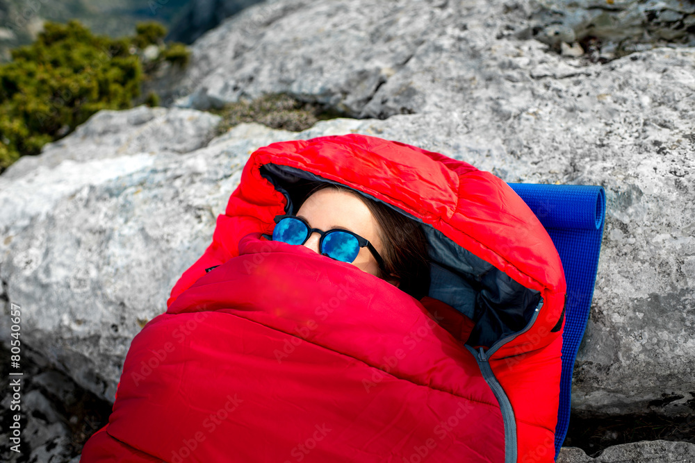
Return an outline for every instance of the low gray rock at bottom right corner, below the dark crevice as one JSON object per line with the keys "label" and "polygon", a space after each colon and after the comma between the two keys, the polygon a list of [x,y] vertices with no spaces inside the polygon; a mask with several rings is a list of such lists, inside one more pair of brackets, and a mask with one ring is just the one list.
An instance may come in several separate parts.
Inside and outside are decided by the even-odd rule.
{"label": "low gray rock at bottom right corner, below the dark crevice", "polygon": [[670,441],[641,441],[606,448],[597,457],[587,456],[580,448],[563,447],[557,463],[691,463],[695,462],[695,444]]}

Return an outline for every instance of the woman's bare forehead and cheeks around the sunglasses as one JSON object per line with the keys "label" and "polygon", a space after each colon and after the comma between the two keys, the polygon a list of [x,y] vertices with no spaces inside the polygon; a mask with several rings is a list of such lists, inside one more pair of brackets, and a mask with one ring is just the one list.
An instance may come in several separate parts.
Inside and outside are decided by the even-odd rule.
{"label": "woman's bare forehead and cheeks around the sunglasses", "polygon": [[[379,239],[379,224],[365,203],[352,193],[332,188],[325,188],[309,196],[297,211],[297,217],[302,217],[311,228],[327,231],[332,228],[345,228],[367,239],[384,255],[382,241]],[[304,246],[318,253],[320,235],[312,233]],[[357,258],[352,264],[362,271],[379,275],[379,264],[366,247],[359,249]]]}

